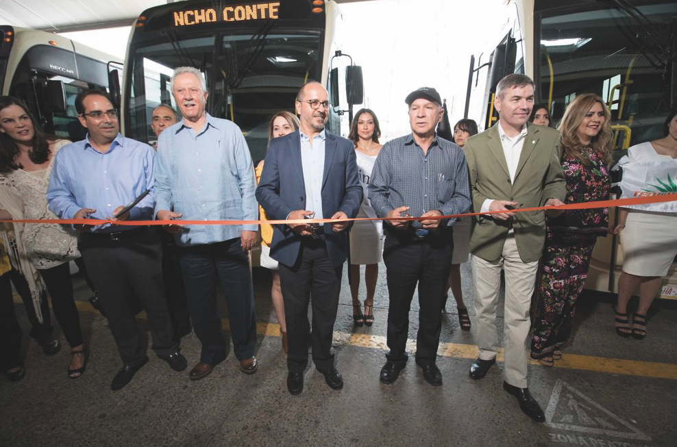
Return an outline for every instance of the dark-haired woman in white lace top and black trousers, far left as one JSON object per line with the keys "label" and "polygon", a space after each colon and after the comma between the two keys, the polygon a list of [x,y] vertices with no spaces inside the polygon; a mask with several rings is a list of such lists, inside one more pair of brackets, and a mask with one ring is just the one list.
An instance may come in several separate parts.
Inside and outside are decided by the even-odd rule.
{"label": "dark-haired woman in white lace top and black trousers, far left", "polygon": [[[25,104],[0,97],[1,218],[57,218],[47,207],[45,193],[56,152],[68,143],[48,140]],[[11,251],[16,268],[29,283],[36,312],[40,312],[42,281],[47,286],[54,315],[71,346],[68,376],[77,379],[85,371],[86,353],[69,269],[69,261],[80,257],[75,233],[66,225],[14,224],[14,236]]]}

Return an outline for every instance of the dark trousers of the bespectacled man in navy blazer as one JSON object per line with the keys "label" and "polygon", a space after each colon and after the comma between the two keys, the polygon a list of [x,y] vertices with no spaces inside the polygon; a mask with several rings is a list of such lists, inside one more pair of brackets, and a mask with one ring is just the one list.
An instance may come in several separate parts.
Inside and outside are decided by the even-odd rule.
{"label": "dark trousers of the bespectacled man in navy blazer", "polygon": [[343,266],[332,266],[323,238],[304,238],[296,264],[292,267],[280,264],[289,372],[303,372],[308,366],[309,300],[312,303],[312,361],[321,372],[334,368],[332,337],[342,272]]}

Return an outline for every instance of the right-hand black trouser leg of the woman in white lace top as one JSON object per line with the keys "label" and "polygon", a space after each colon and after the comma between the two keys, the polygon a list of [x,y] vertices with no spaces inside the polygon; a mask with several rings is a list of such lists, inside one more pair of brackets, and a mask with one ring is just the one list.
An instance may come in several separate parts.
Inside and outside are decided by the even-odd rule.
{"label": "right-hand black trouser leg of the woman in white lace top", "polygon": [[[82,330],[80,329],[80,317],[75,306],[75,298],[73,298],[73,281],[71,281],[69,263],[64,262],[56,267],[42,268],[38,272],[40,272],[42,280],[45,281],[54,316],[59,322],[64,337],[66,337],[66,342],[71,348],[80,346],[82,344]],[[42,300],[42,302],[47,303],[47,300]],[[49,313],[49,309],[47,309],[47,312]]]}

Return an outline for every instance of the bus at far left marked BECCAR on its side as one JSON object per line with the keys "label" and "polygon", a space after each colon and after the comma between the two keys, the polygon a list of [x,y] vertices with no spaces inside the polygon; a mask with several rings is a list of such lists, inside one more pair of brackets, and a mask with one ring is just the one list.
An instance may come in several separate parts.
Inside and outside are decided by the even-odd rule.
{"label": "bus at far left marked BECCAR on its side", "polygon": [[1,94],[19,98],[42,129],[71,141],[86,129],[75,112],[78,92],[119,91],[122,61],[45,31],[0,25]]}

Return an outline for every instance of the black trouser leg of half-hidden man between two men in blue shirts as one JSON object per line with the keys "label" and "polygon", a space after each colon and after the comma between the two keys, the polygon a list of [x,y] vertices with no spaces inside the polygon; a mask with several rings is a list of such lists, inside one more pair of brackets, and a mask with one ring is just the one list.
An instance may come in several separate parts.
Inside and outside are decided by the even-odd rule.
{"label": "black trouser leg of half-hidden man between two men in blue shirts", "polygon": [[167,298],[167,309],[171,316],[171,327],[174,337],[179,334],[190,332],[190,314],[188,314],[188,301],[186,299],[186,287],[181,272],[181,261],[174,235],[167,233],[161,227],[158,235],[162,241],[162,280],[164,281],[164,295]]}

